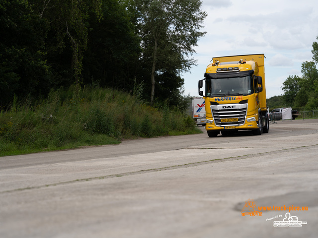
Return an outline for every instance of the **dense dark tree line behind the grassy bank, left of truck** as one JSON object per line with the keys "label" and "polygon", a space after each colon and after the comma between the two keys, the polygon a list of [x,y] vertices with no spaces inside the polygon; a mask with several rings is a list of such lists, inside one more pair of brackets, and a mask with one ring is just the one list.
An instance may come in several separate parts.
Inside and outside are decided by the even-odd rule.
{"label": "dense dark tree line behind the grassy bank, left of truck", "polygon": [[0,103],[76,84],[177,105],[205,32],[200,0],[0,0]]}

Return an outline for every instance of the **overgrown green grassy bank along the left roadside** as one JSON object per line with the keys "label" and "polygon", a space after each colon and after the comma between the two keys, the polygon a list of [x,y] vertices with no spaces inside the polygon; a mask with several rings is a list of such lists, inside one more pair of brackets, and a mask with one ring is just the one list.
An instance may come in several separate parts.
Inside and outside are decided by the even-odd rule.
{"label": "overgrown green grassy bank along the left roadside", "polygon": [[117,144],[123,138],[198,133],[193,120],[168,106],[98,87],[51,91],[30,103],[15,97],[0,112],[0,155]]}

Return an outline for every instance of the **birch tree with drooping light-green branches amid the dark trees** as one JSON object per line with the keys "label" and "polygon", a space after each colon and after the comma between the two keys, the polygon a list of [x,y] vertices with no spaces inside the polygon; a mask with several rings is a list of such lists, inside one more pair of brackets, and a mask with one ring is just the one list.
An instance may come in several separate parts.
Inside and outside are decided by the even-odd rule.
{"label": "birch tree with drooping light-green branches amid the dark trees", "polygon": [[[54,38],[52,49],[72,50],[72,69],[75,82],[80,83],[83,51],[88,40],[88,17],[93,12],[101,17],[102,0],[31,0],[40,18],[46,19],[51,36]],[[68,42],[66,42],[68,40]],[[69,49],[66,49],[69,50]]]}

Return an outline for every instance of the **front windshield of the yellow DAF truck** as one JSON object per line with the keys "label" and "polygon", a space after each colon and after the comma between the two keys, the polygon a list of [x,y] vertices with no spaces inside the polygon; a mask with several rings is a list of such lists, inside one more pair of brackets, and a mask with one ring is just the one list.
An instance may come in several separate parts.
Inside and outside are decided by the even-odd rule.
{"label": "front windshield of the yellow DAF truck", "polygon": [[208,97],[228,95],[250,95],[254,93],[251,75],[246,77],[219,78],[206,80]]}

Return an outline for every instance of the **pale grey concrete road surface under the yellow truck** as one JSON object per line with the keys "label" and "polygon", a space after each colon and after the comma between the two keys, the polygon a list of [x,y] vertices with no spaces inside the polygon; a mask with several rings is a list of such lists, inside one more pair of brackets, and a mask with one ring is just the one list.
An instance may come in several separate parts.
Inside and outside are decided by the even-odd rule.
{"label": "pale grey concrete road surface under the yellow truck", "polygon": [[316,238],[317,224],[318,119],[0,157],[0,238]]}

